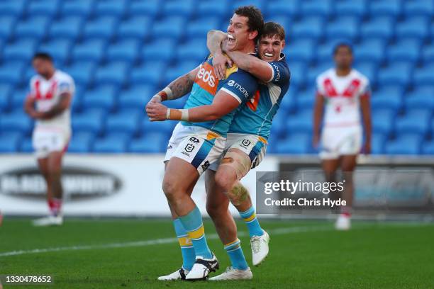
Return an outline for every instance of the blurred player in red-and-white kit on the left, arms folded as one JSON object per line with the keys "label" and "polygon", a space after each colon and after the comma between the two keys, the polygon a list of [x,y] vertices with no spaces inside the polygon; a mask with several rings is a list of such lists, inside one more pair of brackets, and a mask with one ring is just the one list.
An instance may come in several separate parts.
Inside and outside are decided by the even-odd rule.
{"label": "blurred player in red-and-white kit on the left, arms folded", "polygon": [[52,57],[37,53],[33,57],[37,73],[30,79],[30,94],[24,110],[34,118],[33,148],[47,184],[50,215],[33,222],[35,226],[62,225],[62,157],[71,137],[70,110],[74,80],[55,69]]}

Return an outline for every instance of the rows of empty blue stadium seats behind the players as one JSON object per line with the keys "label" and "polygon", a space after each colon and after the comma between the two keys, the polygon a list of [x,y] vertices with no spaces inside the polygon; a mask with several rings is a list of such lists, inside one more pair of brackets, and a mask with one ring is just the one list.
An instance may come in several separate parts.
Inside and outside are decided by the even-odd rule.
{"label": "rows of empty blue stadium seats behind the players", "polygon": [[[13,135],[0,151],[32,150],[33,120],[23,101],[35,74],[30,59],[45,51],[76,83],[71,152],[164,152],[176,123],[150,123],[145,104],[204,60],[207,31],[226,30],[243,4],[259,6],[266,21],[286,29],[291,88],[275,117],[269,152],[315,152],[314,81],[333,66],[335,43],[350,40],[355,68],[373,89],[372,152],[434,154],[432,0],[0,1],[0,140]],[[186,99],[168,104],[182,108]],[[97,137],[101,145],[94,147]]]}

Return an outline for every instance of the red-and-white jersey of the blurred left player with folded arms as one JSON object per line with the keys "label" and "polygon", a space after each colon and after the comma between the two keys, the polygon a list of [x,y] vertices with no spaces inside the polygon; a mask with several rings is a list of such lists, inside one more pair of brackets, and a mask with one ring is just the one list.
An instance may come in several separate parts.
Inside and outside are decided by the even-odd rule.
{"label": "red-and-white jersey of the blurred left player with folded arms", "polygon": [[[74,80],[65,72],[56,70],[51,79],[45,79],[39,74],[36,74],[30,79],[30,97],[35,98],[36,111],[49,111],[55,104],[60,101],[61,95],[69,92],[74,95],[75,86]],[[37,120],[37,126],[47,126],[70,130],[71,127],[71,111],[65,109],[60,115],[48,120]]]}

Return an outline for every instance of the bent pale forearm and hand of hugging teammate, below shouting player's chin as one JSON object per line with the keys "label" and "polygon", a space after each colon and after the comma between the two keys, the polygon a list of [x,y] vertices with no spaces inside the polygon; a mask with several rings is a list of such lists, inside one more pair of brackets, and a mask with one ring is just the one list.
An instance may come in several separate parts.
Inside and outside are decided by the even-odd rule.
{"label": "bent pale forearm and hand of hugging teammate, below shouting player's chin", "polygon": [[221,50],[221,43],[228,38],[228,33],[221,30],[209,30],[206,35],[206,46],[213,55],[213,68],[216,77],[220,80],[226,78],[226,67],[232,67],[232,61]]}

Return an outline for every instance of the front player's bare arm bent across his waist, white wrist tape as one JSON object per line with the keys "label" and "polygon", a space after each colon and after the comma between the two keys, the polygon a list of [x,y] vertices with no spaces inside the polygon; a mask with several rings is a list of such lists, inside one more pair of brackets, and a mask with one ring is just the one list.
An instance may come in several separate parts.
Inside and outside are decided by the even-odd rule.
{"label": "front player's bare arm bent across his waist, white wrist tape", "polygon": [[146,107],[146,112],[148,113],[150,121],[184,120],[192,123],[200,123],[221,118],[239,105],[240,102],[236,98],[225,91],[218,91],[211,105],[189,109],[174,109],[167,108],[162,105],[162,103],[150,103]]}

